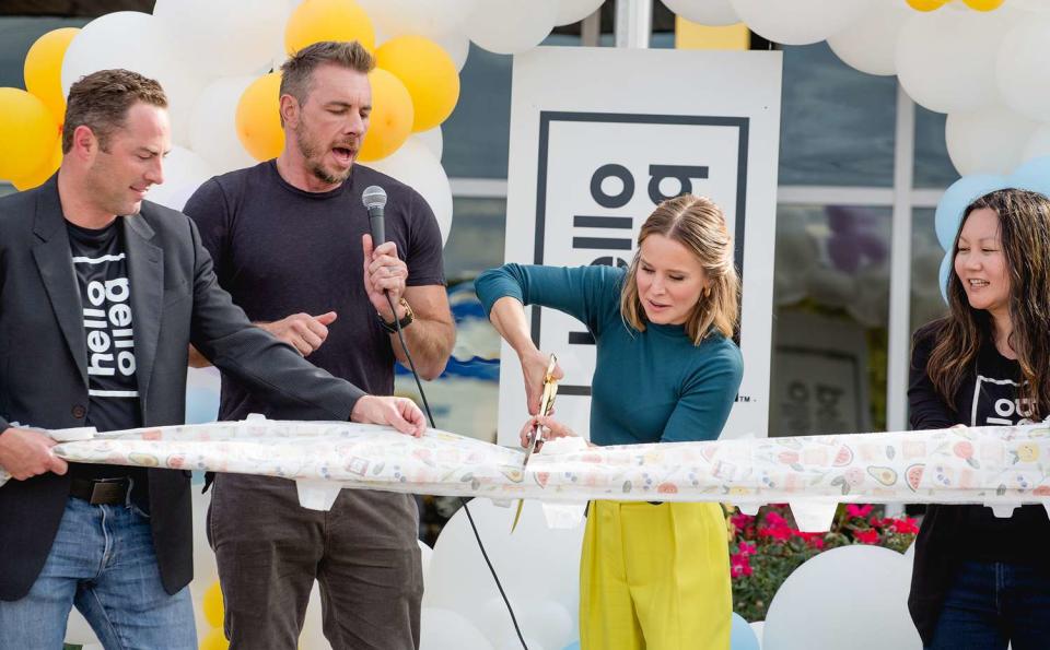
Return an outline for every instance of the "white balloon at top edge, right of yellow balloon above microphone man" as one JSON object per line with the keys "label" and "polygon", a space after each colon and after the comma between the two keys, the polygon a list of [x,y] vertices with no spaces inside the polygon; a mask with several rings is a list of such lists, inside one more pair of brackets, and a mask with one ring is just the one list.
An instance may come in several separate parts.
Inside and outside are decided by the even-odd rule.
{"label": "white balloon at top edge, right of yellow balloon above microphone man", "polygon": [[388,37],[417,34],[427,38],[463,28],[479,0],[358,0],[377,29]]}

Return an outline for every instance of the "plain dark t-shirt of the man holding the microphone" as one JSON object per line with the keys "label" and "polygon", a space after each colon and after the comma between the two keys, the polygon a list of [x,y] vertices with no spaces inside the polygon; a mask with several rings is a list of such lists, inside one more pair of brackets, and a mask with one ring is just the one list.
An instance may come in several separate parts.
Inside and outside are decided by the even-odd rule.
{"label": "plain dark t-shirt of the man holding the microphone", "polygon": [[[394,391],[394,350],[364,291],[361,236],[369,215],[361,194],[371,185],[386,190],[387,240],[408,264],[408,285],[444,285],[438,221],[408,186],[354,165],[349,179],[329,192],[306,192],[281,178],[275,161],[212,178],[186,203],[215,263],[219,284],[253,321],[298,312],[336,311],[328,339],[307,358],[372,394]],[[295,417],[222,377],[220,417],[248,413]]]}

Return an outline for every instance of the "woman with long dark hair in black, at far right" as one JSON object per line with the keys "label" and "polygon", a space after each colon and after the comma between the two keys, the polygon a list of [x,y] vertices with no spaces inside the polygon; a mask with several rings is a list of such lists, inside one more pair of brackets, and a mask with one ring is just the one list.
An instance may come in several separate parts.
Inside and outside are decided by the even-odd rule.
{"label": "woman with long dark hair in black, at far right", "polygon": [[[1016,425],[1050,414],[1050,199],[1005,189],[971,203],[953,249],[948,316],[913,340],[915,429]],[[930,506],[908,606],[928,649],[1050,648],[1050,520]]]}

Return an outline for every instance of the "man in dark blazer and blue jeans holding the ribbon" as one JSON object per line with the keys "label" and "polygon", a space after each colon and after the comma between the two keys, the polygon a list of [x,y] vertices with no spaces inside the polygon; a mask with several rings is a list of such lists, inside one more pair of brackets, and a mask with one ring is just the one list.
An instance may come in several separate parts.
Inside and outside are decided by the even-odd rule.
{"label": "man in dark blazer and blue jeans holding the ribbon", "polygon": [[137,73],[83,78],[58,174],[0,199],[0,466],[16,478],[0,488],[0,648],[61,647],[73,604],[106,648],[197,647],[188,473],[67,468],[23,426],[180,424],[192,343],[284,413],[424,428],[410,401],[366,395],[253,326],[194,224],[143,201],[163,181],[166,106]]}

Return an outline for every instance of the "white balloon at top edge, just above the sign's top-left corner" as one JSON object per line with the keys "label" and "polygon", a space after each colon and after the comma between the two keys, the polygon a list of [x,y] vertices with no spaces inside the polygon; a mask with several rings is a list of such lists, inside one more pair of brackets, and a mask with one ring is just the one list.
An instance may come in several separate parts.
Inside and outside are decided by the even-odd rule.
{"label": "white balloon at top edge, just above the sign's top-left corner", "polygon": [[557,15],[557,0],[486,0],[467,17],[463,31],[489,51],[517,55],[539,45]]}

